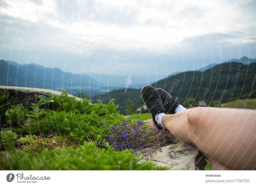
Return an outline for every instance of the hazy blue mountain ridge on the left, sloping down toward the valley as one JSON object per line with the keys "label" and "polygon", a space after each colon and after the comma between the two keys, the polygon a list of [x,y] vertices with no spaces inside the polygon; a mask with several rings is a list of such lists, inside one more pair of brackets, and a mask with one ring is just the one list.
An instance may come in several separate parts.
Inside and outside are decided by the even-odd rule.
{"label": "hazy blue mountain ridge on the left, sloping down toward the valley", "polygon": [[[80,91],[87,95],[97,95],[98,81],[84,74],[63,72],[58,68],[45,68],[36,64],[10,64],[4,60],[0,66],[0,85],[35,87],[61,91],[66,89],[70,94]],[[101,85],[100,85],[101,86]],[[111,89],[112,90],[112,89]],[[100,91],[101,94],[106,91]]]}

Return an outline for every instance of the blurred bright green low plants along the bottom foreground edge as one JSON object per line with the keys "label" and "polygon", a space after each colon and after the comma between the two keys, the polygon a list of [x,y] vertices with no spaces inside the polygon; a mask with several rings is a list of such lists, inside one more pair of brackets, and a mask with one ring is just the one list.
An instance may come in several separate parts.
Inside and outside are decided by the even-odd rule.
{"label": "blurred bright green low plants along the bottom foreground edge", "polygon": [[[8,157],[8,158],[7,158]],[[2,170],[164,170],[151,162],[138,163],[131,150],[113,151],[85,142],[78,148],[57,147],[31,155],[26,151],[7,152],[0,159]]]}

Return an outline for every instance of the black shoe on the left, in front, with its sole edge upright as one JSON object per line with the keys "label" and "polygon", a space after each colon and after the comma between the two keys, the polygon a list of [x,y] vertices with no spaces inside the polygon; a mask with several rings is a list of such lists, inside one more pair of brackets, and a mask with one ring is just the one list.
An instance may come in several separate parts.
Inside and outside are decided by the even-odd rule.
{"label": "black shoe on the left, in front, with its sole edge upright", "polygon": [[163,129],[160,125],[157,124],[155,120],[156,114],[159,114],[161,112],[164,112],[166,114],[162,99],[156,89],[150,85],[145,85],[141,89],[141,98],[144,102],[144,104],[148,107],[146,111],[147,113],[152,114],[153,121],[155,125],[159,129]]}

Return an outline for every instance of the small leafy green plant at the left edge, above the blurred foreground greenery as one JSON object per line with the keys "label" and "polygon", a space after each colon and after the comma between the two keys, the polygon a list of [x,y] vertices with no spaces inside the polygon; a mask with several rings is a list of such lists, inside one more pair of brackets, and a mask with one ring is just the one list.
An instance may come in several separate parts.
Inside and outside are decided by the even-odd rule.
{"label": "small leafy green plant at the left edge, above the blurred foreground greenery", "polygon": [[0,132],[0,149],[11,150],[17,143],[18,135],[11,130]]}

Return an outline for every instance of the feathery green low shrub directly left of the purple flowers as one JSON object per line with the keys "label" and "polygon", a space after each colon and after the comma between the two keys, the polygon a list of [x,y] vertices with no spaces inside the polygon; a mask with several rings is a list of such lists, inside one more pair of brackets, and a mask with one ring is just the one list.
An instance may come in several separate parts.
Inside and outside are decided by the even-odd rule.
{"label": "feathery green low shrub directly left of the purple flowers", "polygon": [[[118,125],[124,120],[124,116],[115,112],[102,114],[97,109],[90,114],[81,114],[79,111],[47,111],[44,118],[39,120],[31,118],[28,125],[23,125],[21,128],[12,128],[12,131],[21,131],[25,134],[52,134],[56,133],[63,137],[69,137],[70,140],[76,140],[82,143],[84,140],[106,140],[109,136],[109,128],[103,126],[104,122],[110,123],[111,126]],[[106,105],[105,107],[108,107]],[[100,114],[100,115],[99,115]]]}

